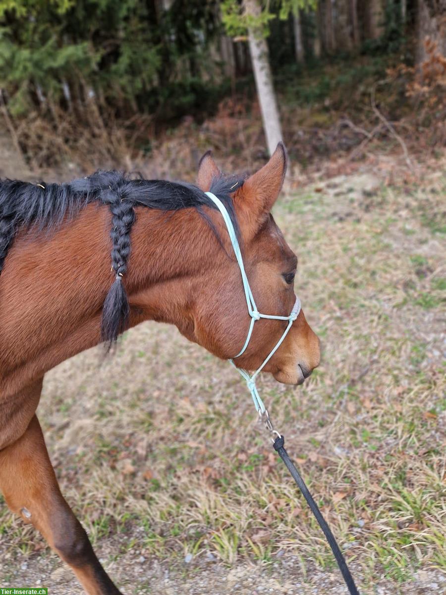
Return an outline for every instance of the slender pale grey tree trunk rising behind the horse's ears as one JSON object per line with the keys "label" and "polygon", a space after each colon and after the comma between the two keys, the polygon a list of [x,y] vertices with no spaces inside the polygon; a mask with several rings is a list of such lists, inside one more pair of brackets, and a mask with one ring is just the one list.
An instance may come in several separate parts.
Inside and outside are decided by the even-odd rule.
{"label": "slender pale grey tree trunk rising behind the horse's ears", "polygon": [[[243,5],[246,14],[252,15],[253,17],[258,17],[260,15],[261,8],[257,0],[244,0]],[[263,130],[265,130],[269,154],[272,155],[277,143],[282,140],[282,129],[280,126],[274,87],[272,85],[268,45],[257,27],[250,27],[248,33],[249,51],[256,80],[260,111],[262,112]]]}

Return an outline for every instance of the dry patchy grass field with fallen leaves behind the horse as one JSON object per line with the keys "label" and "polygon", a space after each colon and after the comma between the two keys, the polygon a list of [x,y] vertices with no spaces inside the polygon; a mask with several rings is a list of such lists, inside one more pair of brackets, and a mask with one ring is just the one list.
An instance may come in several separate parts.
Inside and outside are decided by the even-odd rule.
{"label": "dry patchy grass field with fallen leaves behind the horse", "polygon": [[[446,588],[445,192],[441,176],[341,177],[275,208],[323,355],[303,387],[259,386],[363,594]],[[175,328],[143,324],[109,358],[60,365],[39,417],[62,491],[125,593],[344,592],[243,382]],[[0,553],[8,584],[41,575],[53,594],[79,592],[4,505]]]}

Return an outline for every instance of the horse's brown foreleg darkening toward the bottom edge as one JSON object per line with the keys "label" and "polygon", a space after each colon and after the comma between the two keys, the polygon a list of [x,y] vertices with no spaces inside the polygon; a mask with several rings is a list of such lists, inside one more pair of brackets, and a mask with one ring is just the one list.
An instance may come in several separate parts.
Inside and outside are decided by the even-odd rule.
{"label": "horse's brown foreleg darkening toward the bottom edge", "polygon": [[0,450],[0,490],[11,511],[40,531],[89,595],[121,595],[61,494],[36,415],[18,440]]}

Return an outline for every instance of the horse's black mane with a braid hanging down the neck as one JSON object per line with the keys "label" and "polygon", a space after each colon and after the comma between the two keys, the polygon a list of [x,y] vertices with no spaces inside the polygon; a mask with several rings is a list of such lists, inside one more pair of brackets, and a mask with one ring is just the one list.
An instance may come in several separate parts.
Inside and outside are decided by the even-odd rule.
{"label": "horse's black mane with a braid hanging down the neck", "polygon": [[[243,184],[237,177],[221,176],[212,180],[211,192],[224,203],[239,233],[231,193]],[[130,178],[118,171],[96,171],[91,176],[64,184],[31,184],[19,180],[0,180],[0,274],[14,237],[21,228],[48,230],[73,219],[90,202],[109,205],[111,220],[111,271],[115,280],[102,308],[101,339],[110,347],[127,327],[128,305],[123,277],[130,256],[130,233],[135,220],[134,207],[146,206],[162,211],[196,208],[212,228],[203,211],[215,209],[211,199],[197,186],[186,182]]]}

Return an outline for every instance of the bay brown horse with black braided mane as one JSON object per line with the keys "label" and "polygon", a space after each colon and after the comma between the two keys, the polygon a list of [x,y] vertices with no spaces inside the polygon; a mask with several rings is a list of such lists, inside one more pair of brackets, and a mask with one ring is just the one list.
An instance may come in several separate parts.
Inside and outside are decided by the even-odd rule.
{"label": "bay brown horse with black braided mane", "polygon": [[[297,259],[270,213],[286,164],[279,145],[244,181],[222,176],[208,153],[196,186],[111,172],[61,186],[0,182],[0,490],[90,595],[120,591],[59,490],[35,414],[43,375],[145,320],[174,324],[219,358],[238,353],[250,318],[209,190],[237,224],[259,310],[288,316]],[[257,322],[237,365],[256,369],[286,325]],[[265,371],[301,384],[318,364],[319,341],[301,311]]]}

